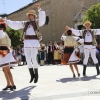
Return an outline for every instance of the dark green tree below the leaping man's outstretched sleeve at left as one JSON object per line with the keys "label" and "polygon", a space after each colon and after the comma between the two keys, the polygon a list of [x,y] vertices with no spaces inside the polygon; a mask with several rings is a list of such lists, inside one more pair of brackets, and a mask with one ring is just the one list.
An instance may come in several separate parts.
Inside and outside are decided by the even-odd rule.
{"label": "dark green tree below the leaping man's outstretched sleeve at left", "polygon": [[11,45],[16,48],[18,45],[22,44],[21,41],[21,32],[18,30],[13,30],[11,28],[7,28],[7,34],[11,39]]}

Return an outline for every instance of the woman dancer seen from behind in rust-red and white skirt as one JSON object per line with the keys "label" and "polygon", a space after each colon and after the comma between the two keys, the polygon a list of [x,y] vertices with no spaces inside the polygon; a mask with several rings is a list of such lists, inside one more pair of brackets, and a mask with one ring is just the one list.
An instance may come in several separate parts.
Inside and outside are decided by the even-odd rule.
{"label": "woman dancer seen from behind in rust-red and white skirt", "polygon": [[[67,36],[65,36],[66,32]],[[80,73],[76,64],[80,61],[77,47],[79,46],[78,44],[83,43],[84,40],[80,39],[79,37],[72,36],[71,30],[66,30],[62,35],[61,39],[64,41],[64,58],[62,64],[69,64],[70,69],[73,73],[73,78],[76,77],[73,69],[74,66],[77,71],[78,77],[80,77]]]}

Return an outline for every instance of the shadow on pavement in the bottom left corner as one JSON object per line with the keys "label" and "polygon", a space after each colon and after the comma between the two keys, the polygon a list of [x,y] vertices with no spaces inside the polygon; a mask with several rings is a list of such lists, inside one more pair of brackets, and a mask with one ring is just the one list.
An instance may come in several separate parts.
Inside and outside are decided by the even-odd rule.
{"label": "shadow on pavement in the bottom left corner", "polygon": [[20,98],[20,100],[28,100],[29,95],[31,94],[31,90],[35,88],[36,86],[29,86],[26,88],[23,88],[18,91],[0,91],[0,98],[2,100],[5,100],[5,98],[8,100],[10,99],[15,99],[15,98]]}

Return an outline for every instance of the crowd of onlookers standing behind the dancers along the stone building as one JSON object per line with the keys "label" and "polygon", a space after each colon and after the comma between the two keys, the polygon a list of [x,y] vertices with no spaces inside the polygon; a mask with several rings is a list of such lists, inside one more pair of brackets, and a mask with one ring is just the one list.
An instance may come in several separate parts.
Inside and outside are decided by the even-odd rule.
{"label": "crowd of onlookers standing behind the dancers along the stone building", "polygon": [[[12,53],[14,58],[17,60],[18,62],[18,66],[22,66],[22,65],[26,65],[26,58],[25,58],[25,53],[24,53],[24,47],[23,46],[18,46],[16,48],[16,50],[12,48]],[[79,62],[79,64],[83,64],[83,60],[84,60],[84,46],[80,45],[79,46],[79,51],[80,51],[80,55],[81,55],[81,60]],[[53,64],[53,65],[57,65],[57,64],[61,64],[62,59],[63,59],[63,53],[64,52],[64,43],[60,42],[57,43],[56,41],[54,43],[52,43],[51,41],[45,45],[43,42],[40,43],[40,48],[38,50],[38,55],[37,55],[37,61],[38,63],[43,66],[45,64]],[[100,44],[97,45],[96,47],[96,57],[98,59],[98,62],[100,63]],[[91,58],[91,56],[89,57],[88,60],[88,65],[94,65],[93,64],[93,60]]]}

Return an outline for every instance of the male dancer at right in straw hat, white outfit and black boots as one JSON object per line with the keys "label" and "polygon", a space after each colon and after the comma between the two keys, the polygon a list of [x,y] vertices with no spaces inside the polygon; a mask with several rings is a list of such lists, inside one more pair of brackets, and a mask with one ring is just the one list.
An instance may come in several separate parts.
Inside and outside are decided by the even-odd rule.
{"label": "male dancer at right in straw hat, white outfit and black boots", "polygon": [[68,26],[66,29],[71,29],[73,34],[76,36],[82,36],[84,38],[84,61],[83,61],[83,76],[86,76],[86,67],[89,59],[89,54],[93,59],[93,62],[96,66],[97,75],[99,75],[99,64],[96,58],[96,38],[95,35],[100,35],[100,29],[91,29],[92,23],[90,21],[86,21],[83,26],[86,28],[85,30],[75,30],[73,28],[69,28]]}

